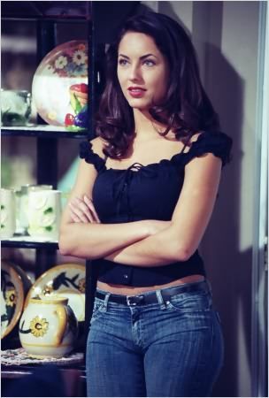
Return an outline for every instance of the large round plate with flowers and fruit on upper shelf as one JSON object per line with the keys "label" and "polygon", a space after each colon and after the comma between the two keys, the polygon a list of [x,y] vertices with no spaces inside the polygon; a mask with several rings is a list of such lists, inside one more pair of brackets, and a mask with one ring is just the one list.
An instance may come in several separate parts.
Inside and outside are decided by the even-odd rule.
{"label": "large round plate with flowers and fruit on upper shelf", "polygon": [[88,42],[73,40],[51,50],[35,72],[33,102],[42,119],[65,126],[66,115],[81,111],[88,98]]}

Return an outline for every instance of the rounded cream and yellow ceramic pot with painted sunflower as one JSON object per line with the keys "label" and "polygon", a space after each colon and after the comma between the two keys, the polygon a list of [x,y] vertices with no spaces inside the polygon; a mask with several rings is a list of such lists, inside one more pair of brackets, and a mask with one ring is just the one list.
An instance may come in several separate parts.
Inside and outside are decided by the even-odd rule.
{"label": "rounded cream and yellow ceramic pot with painted sunflower", "polygon": [[29,300],[19,321],[19,340],[29,356],[58,358],[72,351],[78,322],[67,302],[60,295]]}

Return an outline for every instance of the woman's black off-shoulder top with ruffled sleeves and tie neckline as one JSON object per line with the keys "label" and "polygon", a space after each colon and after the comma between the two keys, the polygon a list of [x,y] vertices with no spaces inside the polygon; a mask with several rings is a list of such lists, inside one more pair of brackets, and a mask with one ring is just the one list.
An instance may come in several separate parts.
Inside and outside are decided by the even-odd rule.
{"label": "woman's black off-shoulder top with ruffled sleeves and tie neckline", "polygon": [[[127,223],[142,219],[171,220],[181,195],[184,167],[194,157],[211,152],[222,160],[222,168],[231,161],[233,141],[224,133],[204,131],[188,152],[163,159],[158,163],[134,163],[125,170],[107,168],[90,142],[81,142],[80,157],[96,167],[98,175],[92,198],[104,224]],[[103,258],[93,260],[98,280],[133,287],[162,285],[188,275],[206,275],[198,249],[188,261],[157,267],[141,267],[114,263]]]}

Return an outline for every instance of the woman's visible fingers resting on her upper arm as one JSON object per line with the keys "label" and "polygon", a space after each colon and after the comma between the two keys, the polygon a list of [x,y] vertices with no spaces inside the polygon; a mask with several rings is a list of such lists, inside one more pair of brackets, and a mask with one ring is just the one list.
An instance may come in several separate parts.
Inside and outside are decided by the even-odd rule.
{"label": "woman's visible fingers resting on her upper arm", "polygon": [[68,205],[74,223],[101,223],[96,213],[94,203],[87,195],[84,195],[83,199],[75,197]]}

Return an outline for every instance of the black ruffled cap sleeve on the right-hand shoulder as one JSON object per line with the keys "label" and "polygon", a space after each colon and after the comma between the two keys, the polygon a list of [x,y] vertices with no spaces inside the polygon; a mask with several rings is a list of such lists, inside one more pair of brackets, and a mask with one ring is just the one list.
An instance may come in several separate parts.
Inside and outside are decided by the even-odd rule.
{"label": "black ruffled cap sleeve on the right-hand shoulder", "polygon": [[201,157],[205,153],[211,152],[222,160],[222,168],[231,162],[231,149],[233,140],[225,133],[208,132],[201,133],[195,142],[192,142],[190,149],[185,153],[184,165],[194,157]]}

